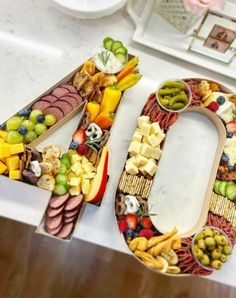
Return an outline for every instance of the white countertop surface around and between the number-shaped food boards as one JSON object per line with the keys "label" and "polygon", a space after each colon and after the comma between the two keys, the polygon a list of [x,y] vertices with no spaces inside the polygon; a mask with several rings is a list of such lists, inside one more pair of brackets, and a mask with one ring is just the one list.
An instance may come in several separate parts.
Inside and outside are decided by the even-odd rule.
{"label": "white countertop surface around and between the number-shaped food boards", "polygon": [[[58,12],[48,0],[0,2],[0,122],[80,65],[105,36],[121,39],[132,54],[140,57],[143,79],[126,92],[112,129],[110,168],[115,171],[110,176],[106,196],[101,207],[85,206],[75,233],[79,239],[126,253],[128,249],[119,235],[113,204],[129,140],[146,100],[139,98],[140,91],[147,96],[158,82],[168,77],[206,77],[229,87],[235,85],[234,80],[133,43],[133,30],[134,25],[125,9],[99,20],[79,20]],[[122,117],[126,119],[127,109],[130,111],[128,127],[122,121]],[[14,202],[10,201],[0,188],[0,215],[35,226],[39,224],[45,197],[41,203],[32,203],[30,208],[29,196],[26,198],[21,193],[19,200],[16,198],[15,194]],[[236,286],[235,276],[234,251],[231,261],[210,279]]]}

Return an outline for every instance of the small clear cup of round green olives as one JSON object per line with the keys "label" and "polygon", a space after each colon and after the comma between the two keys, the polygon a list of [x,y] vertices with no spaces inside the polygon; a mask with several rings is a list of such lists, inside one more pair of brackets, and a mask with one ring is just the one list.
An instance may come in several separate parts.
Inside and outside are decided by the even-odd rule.
{"label": "small clear cup of round green olives", "polygon": [[213,226],[204,227],[192,241],[193,256],[205,269],[220,270],[228,261],[232,249],[225,232]]}

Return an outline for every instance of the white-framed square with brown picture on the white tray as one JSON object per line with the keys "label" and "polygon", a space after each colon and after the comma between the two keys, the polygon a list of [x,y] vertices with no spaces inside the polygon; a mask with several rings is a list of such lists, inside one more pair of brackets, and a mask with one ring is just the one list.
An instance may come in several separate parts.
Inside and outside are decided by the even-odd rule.
{"label": "white-framed square with brown picture on the white tray", "polygon": [[236,19],[209,11],[195,31],[189,50],[230,63],[236,53]]}

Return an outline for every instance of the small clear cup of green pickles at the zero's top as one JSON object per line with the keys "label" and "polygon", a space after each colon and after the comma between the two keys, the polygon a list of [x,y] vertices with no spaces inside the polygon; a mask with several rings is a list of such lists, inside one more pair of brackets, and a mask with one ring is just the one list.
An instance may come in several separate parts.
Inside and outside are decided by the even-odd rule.
{"label": "small clear cup of green pickles at the zero's top", "polygon": [[162,83],[156,92],[159,105],[168,112],[182,112],[192,100],[192,92],[182,80],[169,80]]}

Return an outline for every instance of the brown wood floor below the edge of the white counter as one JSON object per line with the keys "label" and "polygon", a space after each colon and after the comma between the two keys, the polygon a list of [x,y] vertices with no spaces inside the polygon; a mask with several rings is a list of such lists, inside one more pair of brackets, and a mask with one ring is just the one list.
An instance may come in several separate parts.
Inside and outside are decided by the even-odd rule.
{"label": "brown wood floor below the edge of the white counter", "polygon": [[158,275],[130,256],[34,230],[0,218],[0,298],[236,297],[236,288]]}

